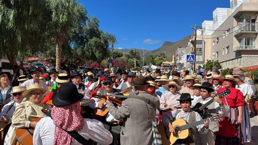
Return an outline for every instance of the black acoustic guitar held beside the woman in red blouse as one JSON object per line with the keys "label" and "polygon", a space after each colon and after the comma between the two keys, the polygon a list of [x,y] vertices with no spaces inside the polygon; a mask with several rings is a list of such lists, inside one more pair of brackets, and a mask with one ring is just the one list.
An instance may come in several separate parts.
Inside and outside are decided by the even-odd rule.
{"label": "black acoustic guitar held beside the woman in red blouse", "polygon": [[[225,91],[223,91],[223,92],[221,92],[221,93],[219,93],[219,94],[217,94],[215,96],[218,96],[219,98],[223,98],[225,95],[228,95],[230,92],[231,91],[229,89],[227,89],[227,90],[225,90]],[[214,102],[213,99],[209,100],[205,104],[202,104],[202,103],[199,102],[193,108],[190,108],[190,110],[198,112],[200,114],[209,114],[207,106],[209,106],[212,102]],[[201,115],[201,117],[203,119],[207,118],[207,116],[203,116],[203,115]]]}

